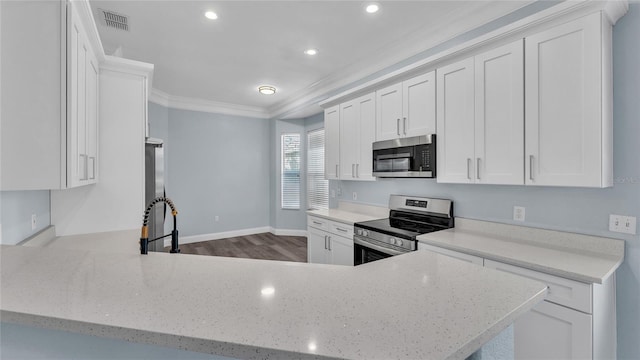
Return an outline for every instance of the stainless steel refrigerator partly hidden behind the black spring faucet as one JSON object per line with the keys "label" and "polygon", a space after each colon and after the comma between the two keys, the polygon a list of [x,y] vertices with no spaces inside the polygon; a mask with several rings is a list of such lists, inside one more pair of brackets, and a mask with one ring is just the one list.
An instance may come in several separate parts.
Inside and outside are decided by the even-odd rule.
{"label": "stainless steel refrigerator partly hidden behind the black spring faucet", "polygon": [[[164,191],[164,149],[162,140],[147,138],[145,142],[145,209],[157,197],[165,196]],[[164,235],[166,206],[157,204],[149,215],[149,240]],[[164,251],[164,239],[149,243],[149,251]]]}

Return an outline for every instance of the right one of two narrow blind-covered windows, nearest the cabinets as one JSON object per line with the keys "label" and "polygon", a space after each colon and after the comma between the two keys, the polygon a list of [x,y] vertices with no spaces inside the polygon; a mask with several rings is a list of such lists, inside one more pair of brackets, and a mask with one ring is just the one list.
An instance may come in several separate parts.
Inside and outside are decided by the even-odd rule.
{"label": "right one of two narrow blind-covered windows, nearest the cabinets", "polygon": [[324,178],[324,129],[307,133],[307,204],[309,209],[329,208],[329,181]]}

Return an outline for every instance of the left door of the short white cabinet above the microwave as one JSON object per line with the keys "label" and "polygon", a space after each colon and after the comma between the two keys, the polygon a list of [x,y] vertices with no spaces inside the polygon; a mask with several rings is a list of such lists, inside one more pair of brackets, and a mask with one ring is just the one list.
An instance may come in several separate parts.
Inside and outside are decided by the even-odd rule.
{"label": "left door of the short white cabinet above the microwave", "polygon": [[402,83],[376,91],[376,141],[401,135]]}

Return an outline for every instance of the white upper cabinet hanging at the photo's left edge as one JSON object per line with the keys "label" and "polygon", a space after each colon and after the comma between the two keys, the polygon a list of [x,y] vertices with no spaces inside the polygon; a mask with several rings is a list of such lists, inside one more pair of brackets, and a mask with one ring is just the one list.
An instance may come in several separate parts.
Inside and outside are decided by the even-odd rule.
{"label": "white upper cabinet hanging at the photo's left edge", "polygon": [[92,47],[96,38],[87,33],[85,25],[95,27],[90,12],[79,15],[88,3],[2,1],[0,6],[1,189],[96,182],[101,49]]}

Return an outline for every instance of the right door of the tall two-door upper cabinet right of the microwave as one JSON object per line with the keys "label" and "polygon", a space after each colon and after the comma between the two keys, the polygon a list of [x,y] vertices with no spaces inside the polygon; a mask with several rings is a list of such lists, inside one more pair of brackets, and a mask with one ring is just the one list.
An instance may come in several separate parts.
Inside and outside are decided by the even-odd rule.
{"label": "right door of the tall two-door upper cabinet right of the microwave", "polygon": [[522,40],[475,57],[475,174],[485,184],[524,184]]}

